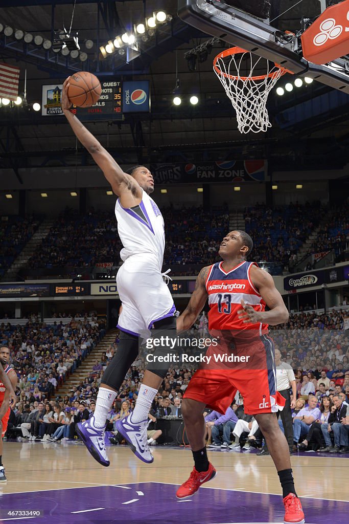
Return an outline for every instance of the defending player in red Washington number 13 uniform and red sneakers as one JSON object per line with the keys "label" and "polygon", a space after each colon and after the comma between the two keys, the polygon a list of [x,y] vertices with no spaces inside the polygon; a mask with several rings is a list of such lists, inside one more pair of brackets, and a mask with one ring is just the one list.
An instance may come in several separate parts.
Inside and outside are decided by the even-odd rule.
{"label": "defending player in red Washington number 13 uniform and red sneakers", "polygon": [[235,369],[232,364],[202,366],[190,380],[182,414],[195,466],[177,497],[193,495],[216,475],[207,458],[202,411],[209,406],[225,413],[239,390],[245,413],[256,419],[276,466],[283,488],[284,522],[301,524],[304,514],[295,491],[288,444],[275,416],[285,399],[276,390],[274,343],[267,335],[268,324],[286,322],[288,311],[273,278],[256,263],[246,261],[252,246],[251,237],[243,231],[224,237],[219,249],[223,261],[201,269],[189,304],[177,319],[178,331],[188,330],[208,298],[208,328],[211,335],[220,335],[220,343],[217,348],[209,347],[207,354],[250,356],[248,365],[234,364]]}

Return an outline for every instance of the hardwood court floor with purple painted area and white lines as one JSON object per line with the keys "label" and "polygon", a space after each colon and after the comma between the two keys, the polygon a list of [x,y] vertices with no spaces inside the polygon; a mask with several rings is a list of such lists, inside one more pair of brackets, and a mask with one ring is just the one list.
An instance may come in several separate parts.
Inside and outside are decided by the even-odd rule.
{"label": "hardwood court floor with purple painted area and white lines", "polygon": [[[154,446],[153,464],[127,446],[108,447],[110,466],[93,460],[82,444],[5,442],[7,483],[0,484],[0,524],[24,522],[8,509],[44,511],[33,524],[283,522],[280,485],[271,457],[251,452],[209,451],[218,470],[192,500],[178,501],[176,485],[192,470],[188,449]],[[307,524],[344,524],[349,518],[347,471],[342,456],[291,457]]]}

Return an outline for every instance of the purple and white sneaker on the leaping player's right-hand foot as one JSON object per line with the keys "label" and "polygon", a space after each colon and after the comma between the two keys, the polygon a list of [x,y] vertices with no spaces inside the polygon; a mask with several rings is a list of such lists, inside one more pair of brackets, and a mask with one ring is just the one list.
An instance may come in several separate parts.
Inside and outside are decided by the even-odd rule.
{"label": "purple and white sneaker on the leaping player's right-hand foot", "polygon": [[148,420],[142,420],[137,424],[131,422],[131,414],[115,422],[116,429],[127,440],[131,451],[143,462],[151,464],[154,460],[147,442]]}

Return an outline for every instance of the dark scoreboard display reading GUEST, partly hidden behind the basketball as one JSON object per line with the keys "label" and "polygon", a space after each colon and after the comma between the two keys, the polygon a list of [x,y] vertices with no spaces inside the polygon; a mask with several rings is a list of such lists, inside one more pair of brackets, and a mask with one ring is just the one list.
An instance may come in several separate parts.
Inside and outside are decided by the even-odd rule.
{"label": "dark scoreboard display reading GUEST, partly hidden behind the basketball", "polygon": [[98,102],[92,107],[72,106],[70,111],[74,113],[81,121],[112,119],[122,120],[122,82],[111,80],[101,82],[102,93]]}

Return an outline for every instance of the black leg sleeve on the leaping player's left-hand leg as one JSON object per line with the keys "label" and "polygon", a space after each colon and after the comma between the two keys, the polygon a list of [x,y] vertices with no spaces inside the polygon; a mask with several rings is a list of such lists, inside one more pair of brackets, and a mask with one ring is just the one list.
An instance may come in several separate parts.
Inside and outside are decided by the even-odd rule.
{"label": "black leg sleeve on the leaping player's left-hand leg", "polygon": [[120,342],[114,357],[103,373],[103,384],[118,391],[129,367],[138,356],[138,343],[138,336],[120,331]]}

